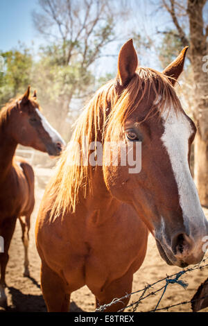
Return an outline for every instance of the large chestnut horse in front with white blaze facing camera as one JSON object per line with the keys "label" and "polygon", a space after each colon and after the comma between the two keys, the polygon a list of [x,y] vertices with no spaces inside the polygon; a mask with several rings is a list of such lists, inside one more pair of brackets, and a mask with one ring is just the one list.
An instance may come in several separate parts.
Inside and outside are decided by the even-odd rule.
{"label": "large chestnut horse in front with white blaze facing camera", "polygon": [[[97,305],[130,293],[149,231],[168,264],[202,259],[207,221],[189,169],[196,127],[173,88],[186,51],[159,73],[137,67],[129,40],[116,79],[98,90],[78,119],[36,223],[48,311],[68,311],[71,292],[85,284]],[[137,165],[138,144],[141,171],[132,171],[131,160],[124,164],[123,158],[131,153]]]}

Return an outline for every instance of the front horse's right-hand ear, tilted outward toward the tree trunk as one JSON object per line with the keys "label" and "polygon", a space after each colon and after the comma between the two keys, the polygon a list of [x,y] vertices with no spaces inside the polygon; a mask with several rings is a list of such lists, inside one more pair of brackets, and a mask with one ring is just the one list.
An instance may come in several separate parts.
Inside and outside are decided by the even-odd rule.
{"label": "front horse's right-hand ear, tilted outward toward the tree trunk", "polygon": [[173,62],[171,62],[171,64],[168,65],[168,67],[166,67],[166,69],[164,69],[163,71],[163,74],[173,78],[170,78],[170,82],[173,86],[175,85],[177,78],[183,71],[184,61],[188,48],[189,46],[186,46],[184,49],[182,49],[180,55],[178,55],[178,57]]}

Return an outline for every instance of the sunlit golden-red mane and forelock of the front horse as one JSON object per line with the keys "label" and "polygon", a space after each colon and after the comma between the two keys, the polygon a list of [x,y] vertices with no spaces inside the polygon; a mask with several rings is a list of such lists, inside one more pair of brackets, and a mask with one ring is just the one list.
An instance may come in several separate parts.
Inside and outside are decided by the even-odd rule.
{"label": "sunlit golden-red mane and forelock of the front horse", "polygon": [[[89,141],[88,144],[98,139],[99,141],[106,138],[115,140],[114,126],[118,123],[123,126],[125,119],[134,112],[144,96],[149,96],[152,89],[155,92],[155,98],[159,98],[159,103],[150,108],[144,120],[155,112],[156,106],[159,108],[160,117],[164,110],[170,110],[171,107],[174,108],[176,114],[182,110],[169,78],[154,69],[138,67],[135,76],[119,95],[115,85],[116,80],[111,80],[98,89],[76,121],[71,141],[58,160],[55,173],[48,185],[51,198],[53,198],[51,218],[64,212],[75,212],[80,194],[86,198],[87,191],[91,189],[92,167],[85,166],[77,146],[80,144],[81,151],[83,151],[85,137]],[[107,114],[108,111],[110,114]],[[73,162],[79,162],[79,164],[73,164]]]}

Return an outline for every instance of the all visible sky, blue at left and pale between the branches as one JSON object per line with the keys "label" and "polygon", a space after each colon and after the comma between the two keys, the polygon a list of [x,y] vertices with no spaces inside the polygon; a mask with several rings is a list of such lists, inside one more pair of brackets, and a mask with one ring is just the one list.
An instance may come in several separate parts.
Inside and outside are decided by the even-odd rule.
{"label": "all visible sky, blue at left and pale between the branches", "polygon": [[[164,31],[166,27],[171,26],[171,18],[164,12],[155,12],[155,7],[150,4],[157,3],[157,1],[159,3],[160,0],[128,1],[136,3],[135,15],[130,22],[126,22],[125,26],[120,26],[118,31],[119,35],[121,35],[119,46],[126,41],[125,37],[122,40],[122,36],[123,31],[127,28],[139,33],[142,31],[146,37],[155,37],[155,44],[157,44],[157,31]],[[13,49],[18,46],[18,42],[26,44],[29,48],[33,44],[35,50],[38,49],[40,44],[45,43],[45,40],[35,31],[35,26],[33,26],[31,14],[37,8],[37,0],[0,0],[0,51]],[[114,67],[116,69],[116,55],[119,54],[118,46],[110,44],[105,51],[107,51],[107,54],[113,53],[115,56],[114,58],[107,56],[96,62],[94,69],[98,72],[98,75],[103,73],[103,69],[105,73],[111,73]],[[148,55],[144,53],[139,60],[141,65],[159,69],[155,53],[148,53]]]}

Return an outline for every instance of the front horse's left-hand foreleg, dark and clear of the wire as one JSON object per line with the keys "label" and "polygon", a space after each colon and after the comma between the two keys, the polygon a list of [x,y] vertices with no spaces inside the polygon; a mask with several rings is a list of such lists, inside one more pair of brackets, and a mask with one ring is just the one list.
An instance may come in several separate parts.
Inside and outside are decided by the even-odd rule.
{"label": "front horse's left-hand foreleg, dark and clear of the wire", "polygon": [[68,312],[70,294],[64,280],[42,262],[41,288],[49,312]]}

